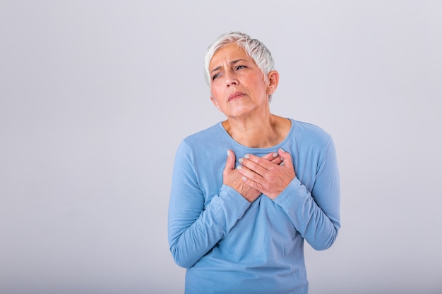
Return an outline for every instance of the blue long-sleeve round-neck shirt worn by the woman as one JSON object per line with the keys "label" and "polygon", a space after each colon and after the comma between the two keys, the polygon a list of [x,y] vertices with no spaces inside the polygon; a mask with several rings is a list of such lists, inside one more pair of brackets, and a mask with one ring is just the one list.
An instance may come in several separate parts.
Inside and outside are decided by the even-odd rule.
{"label": "blue long-sleeve round-neck shirt worn by the woman", "polygon": [[[340,182],[333,140],[309,123],[292,121],[285,140],[249,148],[221,123],[178,147],[169,201],[169,246],[186,267],[186,294],[307,293],[304,239],[330,247],[340,228]],[[236,159],[284,149],[296,177],[271,200],[250,203],[223,185],[227,149]],[[237,163],[238,164],[238,163]]]}

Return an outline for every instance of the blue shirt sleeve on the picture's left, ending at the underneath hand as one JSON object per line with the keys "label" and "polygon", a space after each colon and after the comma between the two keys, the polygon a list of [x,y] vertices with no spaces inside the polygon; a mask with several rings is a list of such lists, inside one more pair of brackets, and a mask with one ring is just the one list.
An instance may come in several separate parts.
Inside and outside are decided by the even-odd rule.
{"label": "blue shirt sleeve on the picture's left, ending at the underneath hand", "polygon": [[185,141],[177,150],[169,199],[168,238],[174,261],[192,267],[221,240],[250,203],[233,188],[222,185],[205,206],[198,185],[194,154]]}

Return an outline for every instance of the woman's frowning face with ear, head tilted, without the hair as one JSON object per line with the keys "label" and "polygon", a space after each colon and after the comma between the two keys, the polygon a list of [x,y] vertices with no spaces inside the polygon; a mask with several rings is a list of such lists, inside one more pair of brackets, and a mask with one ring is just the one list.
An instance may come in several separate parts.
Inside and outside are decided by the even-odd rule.
{"label": "woman's frowning face with ear, head tilted, without the hair", "polygon": [[268,94],[272,89],[241,47],[231,44],[217,51],[210,61],[209,72],[210,99],[227,118],[269,111]]}

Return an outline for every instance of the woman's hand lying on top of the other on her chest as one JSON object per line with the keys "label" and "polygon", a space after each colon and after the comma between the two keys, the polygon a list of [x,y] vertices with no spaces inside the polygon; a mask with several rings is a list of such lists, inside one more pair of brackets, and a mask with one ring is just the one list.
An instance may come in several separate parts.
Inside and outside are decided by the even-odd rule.
{"label": "woman's hand lying on top of the other on her chest", "polygon": [[290,154],[282,149],[278,149],[277,153],[282,158],[283,164],[275,164],[261,157],[246,154],[239,160],[241,166],[237,168],[244,176],[244,183],[261,191],[272,200],[280,195],[296,176]]}

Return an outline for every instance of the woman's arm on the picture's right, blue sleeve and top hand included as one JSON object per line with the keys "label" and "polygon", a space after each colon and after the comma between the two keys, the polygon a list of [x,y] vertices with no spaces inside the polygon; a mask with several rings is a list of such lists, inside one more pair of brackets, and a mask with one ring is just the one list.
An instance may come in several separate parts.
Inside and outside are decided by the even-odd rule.
{"label": "woman's arm on the picture's right, blue sleeve and top hand included", "polygon": [[316,250],[333,245],[340,228],[340,183],[335,147],[331,137],[313,169],[311,192],[294,173],[292,157],[279,150],[284,165],[269,164],[248,155],[241,159],[244,182],[278,204],[303,238]]}

